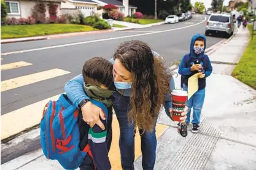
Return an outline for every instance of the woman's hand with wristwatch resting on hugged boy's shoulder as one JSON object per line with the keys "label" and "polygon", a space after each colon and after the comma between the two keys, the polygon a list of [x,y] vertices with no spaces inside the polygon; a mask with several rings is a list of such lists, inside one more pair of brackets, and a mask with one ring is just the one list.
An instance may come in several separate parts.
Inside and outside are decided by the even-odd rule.
{"label": "woman's hand with wristwatch resting on hugged boy's shoulder", "polygon": [[83,105],[81,110],[83,114],[83,121],[90,125],[91,128],[97,124],[101,129],[105,129],[105,126],[99,119],[100,116],[103,120],[106,120],[105,114],[100,107],[88,101]]}

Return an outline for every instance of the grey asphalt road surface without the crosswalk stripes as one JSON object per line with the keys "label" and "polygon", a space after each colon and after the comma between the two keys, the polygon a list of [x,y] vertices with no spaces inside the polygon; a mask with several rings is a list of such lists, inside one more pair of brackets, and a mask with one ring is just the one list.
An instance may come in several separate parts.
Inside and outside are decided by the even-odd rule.
{"label": "grey asphalt road surface without the crosswalk stripes", "polygon": [[[168,63],[179,61],[189,52],[193,34],[204,34],[206,26],[204,17],[204,15],[194,16],[192,20],[177,24],[131,31],[1,44],[1,65],[18,61],[32,64],[1,71],[1,82],[55,68],[71,72],[54,79],[1,91],[1,115],[63,93],[65,83],[80,74],[83,63],[88,58],[93,56],[111,58],[117,46],[123,41],[138,39],[147,42],[153,50],[164,56]],[[206,46],[211,47],[221,40],[220,37],[207,37]],[[23,146],[17,145],[1,150],[1,164],[41,147],[39,137],[22,143]]]}

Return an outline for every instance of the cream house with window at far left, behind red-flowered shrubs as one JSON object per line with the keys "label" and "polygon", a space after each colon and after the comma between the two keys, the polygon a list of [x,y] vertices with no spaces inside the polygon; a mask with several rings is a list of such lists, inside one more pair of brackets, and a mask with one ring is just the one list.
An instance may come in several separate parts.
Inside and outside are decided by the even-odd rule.
{"label": "cream house with window at far left, behind red-flowered shrubs", "polygon": [[[57,16],[61,15],[60,7],[61,7],[61,1],[63,0],[41,0],[45,4],[45,17],[49,17],[48,12],[48,6],[47,4],[49,2],[53,2],[58,6],[58,9],[56,10]],[[28,18],[31,16],[31,9],[34,8],[37,0],[4,0],[6,2],[7,6],[7,17],[12,18]]]}

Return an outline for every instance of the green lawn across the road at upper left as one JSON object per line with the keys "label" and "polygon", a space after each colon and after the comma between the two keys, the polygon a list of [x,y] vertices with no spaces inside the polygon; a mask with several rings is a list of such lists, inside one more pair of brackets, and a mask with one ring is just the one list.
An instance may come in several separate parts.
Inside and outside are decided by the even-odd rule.
{"label": "green lawn across the road at upper left", "polygon": [[1,39],[44,36],[50,34],[95,31],[91,26],[73,24],[36,24],[1,26]]}

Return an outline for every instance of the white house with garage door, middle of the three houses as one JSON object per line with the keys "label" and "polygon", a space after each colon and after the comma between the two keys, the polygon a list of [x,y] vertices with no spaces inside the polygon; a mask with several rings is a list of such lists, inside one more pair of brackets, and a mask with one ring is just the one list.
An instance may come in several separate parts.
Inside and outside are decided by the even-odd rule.
{"label": "white house with garage door, middle of the three houses", "polygon": [[78,10],[85,17],[95,14],[98,3],[91,0],[64,0],[61,2],[61,14],[76,14]]}

